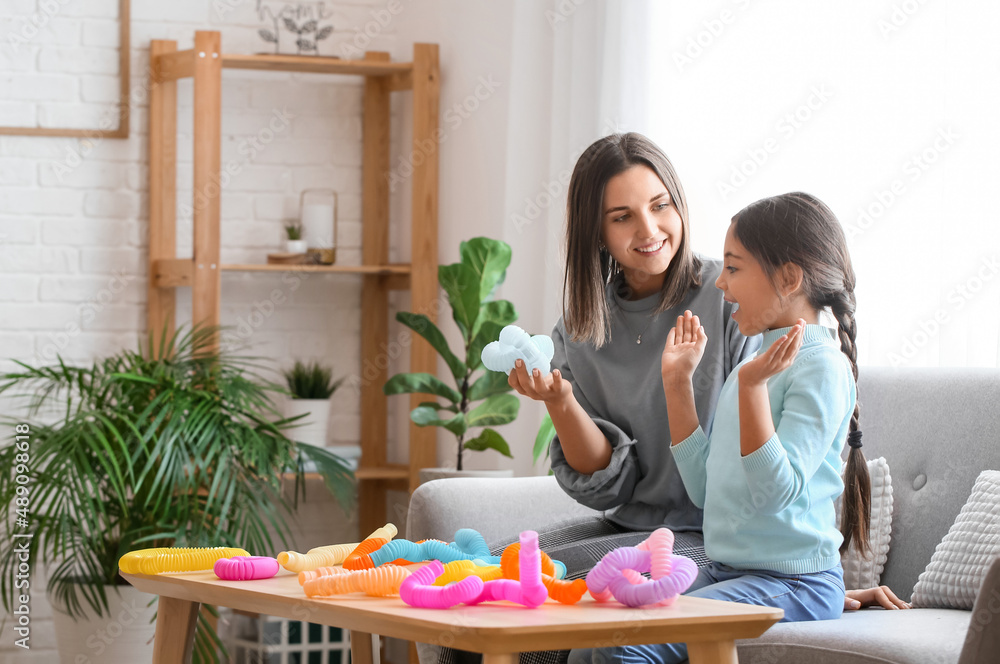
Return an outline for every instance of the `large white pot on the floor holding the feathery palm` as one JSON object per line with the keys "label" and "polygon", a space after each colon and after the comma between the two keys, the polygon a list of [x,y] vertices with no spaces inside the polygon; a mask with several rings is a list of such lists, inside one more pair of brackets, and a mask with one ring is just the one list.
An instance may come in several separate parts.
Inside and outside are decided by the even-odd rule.
{"label": "large white pot on the floor holding the feathery palm", "polygon": [[[132,586],[105,586],[110,612],[74,620],[58,606],[52,623],[61,664],[77,662],[151,662],[156,624],[155,598]],[[88,610],[89,613],[89,610]]]}

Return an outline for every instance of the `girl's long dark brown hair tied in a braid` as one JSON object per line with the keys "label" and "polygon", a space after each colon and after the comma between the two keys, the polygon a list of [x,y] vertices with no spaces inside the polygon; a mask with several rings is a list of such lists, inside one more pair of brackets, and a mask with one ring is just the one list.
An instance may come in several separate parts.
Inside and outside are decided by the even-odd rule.
{"label": "girl's long dark brown hair tied in a braid", "polygon": [[[850,360],[857,385],[854,267],[844,230],[833,211],[815,196],[795,192],[751,203],[733,217],[733,225],[736,239],[772,280],[787,263],[802,269],[802,292],[809,304],[817,311],[829,307],[837,319],[840,349]],[[847,436],[851,451],[844,472],[841,553],[852,541],[862,553],[871,549],[871,480],[861,451],[859,415],[855,403]]]}

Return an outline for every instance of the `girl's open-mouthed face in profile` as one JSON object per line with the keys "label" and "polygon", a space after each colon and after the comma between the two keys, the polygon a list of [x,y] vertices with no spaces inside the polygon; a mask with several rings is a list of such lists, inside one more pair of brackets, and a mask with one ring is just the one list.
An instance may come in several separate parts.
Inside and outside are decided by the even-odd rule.
{"label": "girl's open-mouthed face in profile", "polygon": [[[733,312],[733,320],[739,325],[740,332],[749,337],[764,330],[794,325],[802,317],[799,298],[778,294],[764,268],[736,239],[735,228],[736,224],[729,224],[722,274],[715,280],[715,285],[722,290],[726,302],[739,305]],[[806,317],[807,320],[814,318]]]}

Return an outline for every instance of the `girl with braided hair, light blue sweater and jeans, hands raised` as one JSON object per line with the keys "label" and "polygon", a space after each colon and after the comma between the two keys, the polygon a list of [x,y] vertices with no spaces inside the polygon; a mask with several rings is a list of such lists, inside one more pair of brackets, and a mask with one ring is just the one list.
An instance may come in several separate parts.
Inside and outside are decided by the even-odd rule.
{"label": "girl with braided hair, light blue sweater and jeans, hands raised", "polygon": [[[698,316],[677,317],[661,357],[671,452],[704,509],[712,561],[688,595],[783,609],[786,621],[837,618],[840,552],[868,547],[870,490],[858,429],[854,270],[843,231],[821,201],[793,193],[733,217],[716,280],[740,332],[761,350],[729,374],[711,435],[692,376],[708,342]],[[819,325],[829,309],[838,329]],[[840,455],[851,446],[844,482]],[[844,491],[842,533],[834,501]],[[570,662],[682,662],[683,644],[573,651]]]}

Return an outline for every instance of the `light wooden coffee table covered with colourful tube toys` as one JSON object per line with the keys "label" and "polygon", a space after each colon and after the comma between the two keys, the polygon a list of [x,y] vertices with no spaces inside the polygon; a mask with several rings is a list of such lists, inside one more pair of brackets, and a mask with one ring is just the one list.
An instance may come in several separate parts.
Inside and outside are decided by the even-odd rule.
{"label": "light wooden coffee table covered with colourful tube toys", "polygon": [[669,642],[686,642],[692,664],[736,664],[735,640],[756,638],[783,616],[781,609],[694,597],[644,609],[589,597],[574,606],[549,600],[536,609],[508,602],[416,609],[398,597],[359,593],[310,599],[284,570],[261,581],[221,581],[211,571],[122,576],[160,596],[154,664],[191,660],[200,604],[348,629],[353,664],[372,664],[372,634],[480,652],[484,664],[513,664],[528,650]]}

